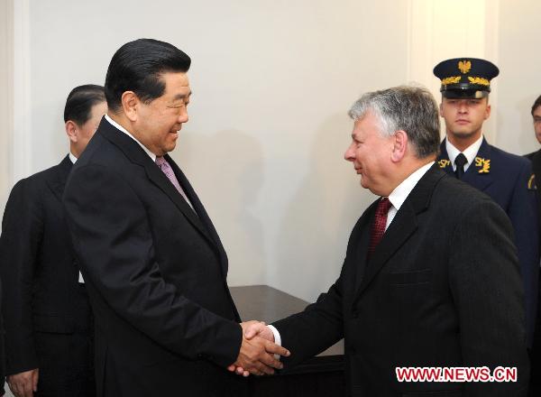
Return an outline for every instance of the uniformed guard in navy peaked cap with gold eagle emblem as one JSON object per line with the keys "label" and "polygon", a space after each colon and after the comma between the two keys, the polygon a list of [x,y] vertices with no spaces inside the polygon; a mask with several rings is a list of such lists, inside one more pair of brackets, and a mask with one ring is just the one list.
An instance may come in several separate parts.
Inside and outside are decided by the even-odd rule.
{"label": "uniformed guard in navy peaked cap with gold eagle emblem", "polygon": [[442,80],[440,114],[446,132],[438,165],[491,196],[511,219],[525,291],[527,346],[531,347],[539,276],[535,182],[530,162],[491,146],[482,135],[482,124],[491,115],[490,81],[498,73],[488,60],[473,58],[436,65],[434,74]]}

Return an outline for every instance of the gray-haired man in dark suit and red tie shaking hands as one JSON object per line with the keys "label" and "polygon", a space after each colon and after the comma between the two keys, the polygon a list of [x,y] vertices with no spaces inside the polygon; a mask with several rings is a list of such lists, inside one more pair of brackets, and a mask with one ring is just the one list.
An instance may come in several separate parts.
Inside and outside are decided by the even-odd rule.
{"label": "gray-haired man in dark suit and red tie shaking hands", "polygon": [[[352,396],[522,395],[523,292],[509,218],[437,167],[437,105],[425,88],[367,93],[350,115],[345,159],[381,198],[354,226],[329,291],[270,327],[252,324],[245,336],[281,339],[291,351],[286,366],[344,337]],[[517,367],[518,382],[399,382],[396,370],[485,365]]]}

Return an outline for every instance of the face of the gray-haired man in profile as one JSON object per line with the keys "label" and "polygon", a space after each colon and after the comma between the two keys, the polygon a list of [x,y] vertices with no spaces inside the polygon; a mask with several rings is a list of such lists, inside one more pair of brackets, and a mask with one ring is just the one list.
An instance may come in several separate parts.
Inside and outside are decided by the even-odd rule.
{"label": "face of the gray-haired man in profile", "polygon": [[353,125],[352,143],[344,153],[344,159],[353,162],[357,174],[361,175],[361,186],[372,193],[387,196],[392,137],[380,133],[376,116],[367,113]]}

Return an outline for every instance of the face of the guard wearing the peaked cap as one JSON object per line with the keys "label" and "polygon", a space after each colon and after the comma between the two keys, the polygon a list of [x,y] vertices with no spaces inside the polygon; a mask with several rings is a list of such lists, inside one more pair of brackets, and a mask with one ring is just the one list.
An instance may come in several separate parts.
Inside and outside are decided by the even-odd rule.
{"label": "face of the guard wearing the peaked cap", "polygon": [[491,115],[486,97],[479,99],[442,98],[440,115],[445,119],[447,134],[457,138],[481,136],[482,123]]}

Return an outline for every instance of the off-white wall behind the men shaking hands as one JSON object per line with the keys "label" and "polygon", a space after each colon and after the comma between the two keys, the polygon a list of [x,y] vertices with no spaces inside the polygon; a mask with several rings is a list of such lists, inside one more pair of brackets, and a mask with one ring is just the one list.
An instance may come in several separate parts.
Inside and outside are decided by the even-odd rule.
{"label": "off-white wall behind the men shaking hands", "polygon": [[230,284],[314,300],[338,275],[347,236],[373,199],[343,160],[346,111],[362,92],[416,80],[439,97],[437,61],[486,57],[502,69],[487,134],[511,152],[536,148],[528,109],[541,91],[541,5],[518,3],[21,0],[15,85],[26,87],[14,88],[24,109],[14,113],[25,117],[12,152],[27,165],[12,183],[67,151],[61,116],[71,88],[103,84],[124,42],[172,42],[193,59],[194,90],[172,155],[215,221]]}

